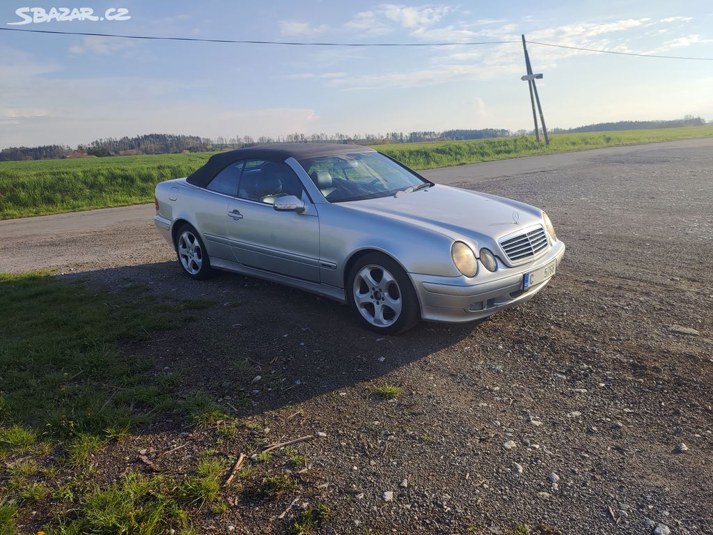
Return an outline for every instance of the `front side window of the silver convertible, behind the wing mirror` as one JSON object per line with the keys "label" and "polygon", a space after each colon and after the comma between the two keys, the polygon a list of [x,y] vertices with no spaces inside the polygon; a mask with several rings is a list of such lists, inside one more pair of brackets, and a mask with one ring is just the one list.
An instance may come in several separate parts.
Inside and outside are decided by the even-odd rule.
{"label": "front side window of the silver convertible, behind the wing mirror", "polygon": [[240,178],[237,196],[258,203],[275,204],[285,195],[302,198],[302,182],[285,163],[248,160]]}

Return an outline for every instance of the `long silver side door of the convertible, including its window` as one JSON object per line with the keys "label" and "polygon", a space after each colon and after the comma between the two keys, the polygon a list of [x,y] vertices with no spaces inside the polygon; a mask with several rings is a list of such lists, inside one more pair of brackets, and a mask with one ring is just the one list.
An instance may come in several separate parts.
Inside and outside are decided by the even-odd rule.
{"label": "long silver side door of the convertible, including its window", "polygon": [[[275,199],[294,195],[304,212],[278,212]],[[227,234],[237,262],[319,282],[319,217],[302,182],[285,163],[248,160],[237,198],[228,205]]]}

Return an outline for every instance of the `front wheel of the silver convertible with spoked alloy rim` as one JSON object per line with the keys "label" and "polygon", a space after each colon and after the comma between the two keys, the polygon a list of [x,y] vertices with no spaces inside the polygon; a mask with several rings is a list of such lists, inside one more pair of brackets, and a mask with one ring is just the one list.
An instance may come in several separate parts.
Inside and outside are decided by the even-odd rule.
{"label": "front wheel of the silver convertible with spoked alloy rim", "polygon": [[404,269],[382,253],[368,253],[352,266],[347,300],[374,332],[395,335],[421,320],[419,297]]}

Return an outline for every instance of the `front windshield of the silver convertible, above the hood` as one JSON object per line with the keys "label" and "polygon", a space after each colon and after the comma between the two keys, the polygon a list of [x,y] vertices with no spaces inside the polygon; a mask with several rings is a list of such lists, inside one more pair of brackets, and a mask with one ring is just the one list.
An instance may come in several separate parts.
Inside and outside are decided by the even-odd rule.
{"label": "front windshield of the silver convertible, above the hood", "polygon": [[430,185],[379,153],[319,156],[299,163],[330,203],[388,197]]}

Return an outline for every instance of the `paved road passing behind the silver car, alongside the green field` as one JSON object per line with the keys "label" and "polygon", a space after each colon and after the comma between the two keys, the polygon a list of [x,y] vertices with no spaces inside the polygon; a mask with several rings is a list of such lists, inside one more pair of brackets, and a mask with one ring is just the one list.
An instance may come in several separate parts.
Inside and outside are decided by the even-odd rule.
{"label": "paved road passing behind the silver car, alongside the green field", "polygon": [[[647,161],[652,155],[683,150],[712,154],[713,139],[513,158],[426,170],[423,174],[436,183],[466,187],[555,170],[571,171],[576,178],[580,168],[610,165],[612,158]],[[523,200],[518,191],[506,196]],[[72,271],[168,260],[170,250],[153,229],[153,215],[153,204],[146,204],[0,221],[0,272]]]}

